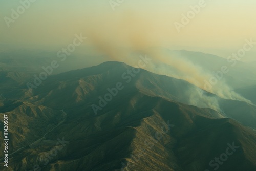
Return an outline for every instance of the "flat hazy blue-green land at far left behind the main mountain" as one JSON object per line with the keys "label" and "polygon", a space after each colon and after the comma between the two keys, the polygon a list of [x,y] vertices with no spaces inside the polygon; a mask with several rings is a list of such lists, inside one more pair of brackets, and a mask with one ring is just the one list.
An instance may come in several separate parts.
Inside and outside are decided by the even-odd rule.
{"label": "flat hazy blue-green land at far left behind the main mountain", "polygon": [[34,75],[39,76],[41,72],[45,72],[42,67],[51,66],[53,61],[57,61],[59,66],[54,68],[51,74],[89,65],[84,62],[83,55],[77,53],[73,53],[63,62],[55,51],[0,50],[0,89],[13,90],[17,89],[20,83],[33,81]]}

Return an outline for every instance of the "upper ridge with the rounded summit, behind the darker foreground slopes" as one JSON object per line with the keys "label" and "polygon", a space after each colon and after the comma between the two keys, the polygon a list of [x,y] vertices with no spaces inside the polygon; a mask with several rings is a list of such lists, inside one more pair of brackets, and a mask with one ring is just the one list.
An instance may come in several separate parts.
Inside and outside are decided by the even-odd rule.
{"label": "upper ridge with the rounded summit, behind the darker foreground slopes", "polygon": [[[52,75],[42,81],[38,88],[33,89],[32,93],[25,82],[19,89],[5,91],[3,95],[61,110],[69,106],[90,104],[94,100],[99,101],[99,96],[109,93],[108,88],[114,88],[117,82],[121,82],[125,89],[118,95],[125,95],[127,91],[140,91],[149,96],[163,97],[200,108],[211,108],[219,112],[216,118],[230,117],[256,128],[254,105],[222,99],[187,81],[157,75],[143,69],[132,77],[127,73],[127,70],[132,69],[122,62],[105,62],[95,67]],[[243,115],[240,113],[242,109]]]}

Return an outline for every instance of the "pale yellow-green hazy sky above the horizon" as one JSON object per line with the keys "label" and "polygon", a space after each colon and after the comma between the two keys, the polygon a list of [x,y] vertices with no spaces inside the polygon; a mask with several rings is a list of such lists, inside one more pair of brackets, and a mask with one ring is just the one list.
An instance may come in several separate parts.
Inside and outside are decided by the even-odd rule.
{"label": "pale yellow-green hazy sky above the horizon", "polygon": [[[115,0],[116,1],[116,0]],[[164,46],[212,53],[222,57],[236,52],[244,39],[256,41],[256,1],[206,0],[206,6],[178,33],[174,23],[199,0],[124,0],[112,9],[108,0],[36,0],[8,28],[19,1],[0,0],[0,48],[58,50],[70,44],[75,34],[88,37],[83,46],[113,47]],[[256,54],[256,47],[247,60]]]}

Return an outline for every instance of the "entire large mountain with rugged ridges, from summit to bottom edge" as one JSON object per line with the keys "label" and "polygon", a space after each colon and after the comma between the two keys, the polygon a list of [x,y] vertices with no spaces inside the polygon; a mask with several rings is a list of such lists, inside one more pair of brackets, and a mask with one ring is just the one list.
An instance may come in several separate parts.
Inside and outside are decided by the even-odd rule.
{"label": "entire large mountain with rugged ridges, from summit to bottom edge", "polygon": [[1,170],[256,170],[246,102],[121,62],[26,84],[0,89],[12,146]]}

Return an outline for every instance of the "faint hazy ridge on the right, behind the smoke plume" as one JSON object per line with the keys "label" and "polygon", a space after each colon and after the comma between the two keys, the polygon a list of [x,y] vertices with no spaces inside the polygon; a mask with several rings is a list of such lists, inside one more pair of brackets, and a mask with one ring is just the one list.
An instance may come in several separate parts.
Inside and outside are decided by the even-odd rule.
{"label": "faint hazy ridge on the right, behind the smoke plume", "polygon": [[233,57],[227,60],[212,54],[186,50],[172,51],[163,47],[151,48],[148,51],[159,51],[169,58],[175,56],[190,61],[195,66],[202,68],[203,71],[211,74],[221,71],[223,66],[227,66],[228,73],[224,74],[224,79],[233,89],[256,85],[255,67]]}

